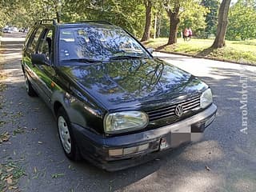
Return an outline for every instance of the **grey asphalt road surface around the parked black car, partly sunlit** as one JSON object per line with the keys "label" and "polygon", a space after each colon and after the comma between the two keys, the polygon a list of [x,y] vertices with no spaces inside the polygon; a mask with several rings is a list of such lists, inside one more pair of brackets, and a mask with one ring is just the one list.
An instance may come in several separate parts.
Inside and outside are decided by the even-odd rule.
{"label": "grey asphalt road surface around the parked black car, partly sunlit", "polygon": [[201,142],[141,166],[109,173],[65,157],[50,110],[40,98],[26,94],[20,37],[11,34],[2,39],[8,78],[7,90],[0,92],[4,122],[0,133],[14,133],[0,144],[0,162],[22,165],[26,175],[19,180],[19,190],[256,191],[256,67],[156,53],[211,86],[218,106],[216,120]]}

